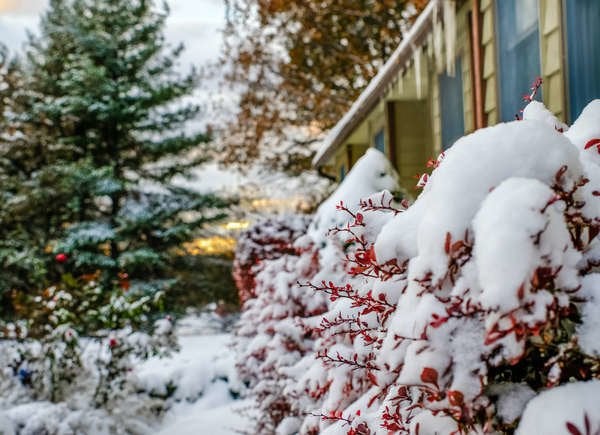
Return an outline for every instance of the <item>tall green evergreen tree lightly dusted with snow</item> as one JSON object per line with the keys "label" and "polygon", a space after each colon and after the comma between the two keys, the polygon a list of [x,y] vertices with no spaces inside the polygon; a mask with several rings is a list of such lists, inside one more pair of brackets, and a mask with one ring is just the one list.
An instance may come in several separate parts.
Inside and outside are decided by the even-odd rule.
{"label": "tall green evergreen tree lightly dusted with snow", "polygon": [[167,15],[151,0],[51,0],[30,38],[17,98],[29,134],[13,146],[29,166],[20,209],[5,208],[47,282],[94,273],[156,295],[177,280],[181,243],[222,217],[223,200],[172,183],[205,159],[207,136],[188,125],[197,76],[177,72]]}

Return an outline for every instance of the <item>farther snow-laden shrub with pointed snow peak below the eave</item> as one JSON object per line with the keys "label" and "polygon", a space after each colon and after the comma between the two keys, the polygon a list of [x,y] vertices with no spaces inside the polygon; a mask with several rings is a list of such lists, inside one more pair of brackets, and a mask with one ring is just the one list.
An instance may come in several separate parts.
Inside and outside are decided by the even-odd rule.
{"label": "farther snow-laden shrub with pointed snow peak below the eave", "polygon": [[316,331],[312,325],[328,309],[327,298],[298,283],[345,276],[342,259],[348,246],[341,238],[326,237],[327,228],[338,219],[332,204],[346,198],[351,207],[357,207],[361,197],[396,188],[397,176],[385,157],[375,150],[368,152],[319,208],[307,235],[290,245],[292,252],[258,258],[256,297],[244,304],[235,343],[240,375],[260,409],[255,433],[293,433],[305,408],[318,400],[293,387],[297,366],[313,361]]}

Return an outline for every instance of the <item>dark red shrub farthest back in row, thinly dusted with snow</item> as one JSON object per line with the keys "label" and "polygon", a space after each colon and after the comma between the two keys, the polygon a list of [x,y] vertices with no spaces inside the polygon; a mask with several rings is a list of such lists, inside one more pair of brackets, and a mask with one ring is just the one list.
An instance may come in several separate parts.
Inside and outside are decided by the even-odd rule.
{"label": "dark red shrub farthest back in row, thinly dusted with snow", "polygon": [[285,254],[295,254],[294,241],[306,232],[306,215],[269,216],[258,220],[237,240],[233,278],[240,302],[256,296],[256,274],[262,264]]}

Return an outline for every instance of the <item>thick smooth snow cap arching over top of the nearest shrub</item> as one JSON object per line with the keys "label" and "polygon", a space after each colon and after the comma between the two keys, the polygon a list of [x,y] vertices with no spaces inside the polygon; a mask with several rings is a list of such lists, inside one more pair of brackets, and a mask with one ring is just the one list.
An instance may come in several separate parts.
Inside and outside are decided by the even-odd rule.
{"label": "thick smooth snow cap arching over top of the nearest shrub", "polygon": [[446,151],[415,204],[382,230],[375,245],[377,259],[416,257],[419,268],[431,270],[438,279],[447,269],[446,234],[463,239],[494,188],[511,177],[551,185],[565,165],[569,188],[582,173],[579,153],[562,134],[537,120],[499,124],[465,136]]}

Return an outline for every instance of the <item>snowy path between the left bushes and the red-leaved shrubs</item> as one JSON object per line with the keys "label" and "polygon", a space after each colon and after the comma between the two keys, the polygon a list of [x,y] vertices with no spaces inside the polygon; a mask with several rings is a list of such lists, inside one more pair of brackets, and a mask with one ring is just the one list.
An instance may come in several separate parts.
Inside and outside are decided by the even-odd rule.
{"label": "snowy path between the left bushes and the red-leaved shrubs", "polygon": [[181,349],[168,358],[153,358],[140,366],[146,388],[177,387],[158,434],[239,434],[248,427],[250,403],[236,400],[240,385],[229,348],[230,334],[212,314],[190,316],[178,324]]}

